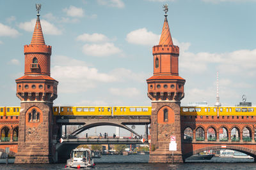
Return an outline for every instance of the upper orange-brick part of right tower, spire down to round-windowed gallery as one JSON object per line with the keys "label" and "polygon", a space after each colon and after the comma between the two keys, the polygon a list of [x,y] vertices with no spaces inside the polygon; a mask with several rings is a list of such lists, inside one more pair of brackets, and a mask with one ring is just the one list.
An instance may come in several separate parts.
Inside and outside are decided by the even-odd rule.
{"label": "upper orange-brick part of right tower, spire down to round-windowed gallery", "polygon": [[173,45],[164,9],[164,25],[159,45],[153,46],[154,75],[148,78],[148,97],[152,101],[180,101],[185,80],[179,76],[179,46]]}

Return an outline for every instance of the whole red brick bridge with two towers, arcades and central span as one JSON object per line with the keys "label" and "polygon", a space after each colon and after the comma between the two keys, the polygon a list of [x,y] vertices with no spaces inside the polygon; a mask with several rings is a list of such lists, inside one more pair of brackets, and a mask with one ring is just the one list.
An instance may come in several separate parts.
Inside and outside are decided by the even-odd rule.
{"label": "whole red brick bridge with two towers, arcades and central span", "polygon": [[[10,148],[10,155],[15,156],[15,163],[63,162],[67,160],[72,149],[82,144],[143,143],[141,139],[61,139],[63,125],[82,125],[72,133],[74,135],[100,125],[122,127],[138,135],[126,125],[145,125],[145,142],[150,143],[150,163],[184,162],[186,158],[196,153],[221,148],[236,150],[256,158],[256,136],[254,136],[256,117],[234,119],[219,115],[201,117],[180,115],[180,100],[184,97],[185,80],[179,76],[179,46],[173,45],[166,15],[167,6],[164,6],[164,24],[159,44],[152,49],[154,73],[147,79],[147,95],[152,101],[151,116],[143,119],[131,117],[71,119],[53,116],[52,104],[57,97],[58,81],[51,78],[52,46],[45,45],[39,18],[40,9],[37,10],[31,44],[24,46],[24,76],[15,80],[16,95],[20,99],[20,115],[0,119],[1,133],[6,132],[6,129],[10,132],[10,141],[1,141],[0,151],[4,152],[5,148]],[[33,111],[36,111],[38,121],[29,120]],[[150,124],[149,128],[148,124]],[[193,136],[191,140],[184,139],[184,131],[188,127]],[[252,140],[231,139],[233,128],[238,130],[238,136],[243,136],[242,129],[245,127],[249,129]],[[205,139],[210,128],[216,133],[215,140]],[[227,140],[221,140],[219,137],[222,128],[227,131]],[[147,129],[150,135],[147,135]],[[202,140],[195,138],[197,129],[205,133]],[[177,143],[174,152],[169,150],[171,136],[175,136]]]}

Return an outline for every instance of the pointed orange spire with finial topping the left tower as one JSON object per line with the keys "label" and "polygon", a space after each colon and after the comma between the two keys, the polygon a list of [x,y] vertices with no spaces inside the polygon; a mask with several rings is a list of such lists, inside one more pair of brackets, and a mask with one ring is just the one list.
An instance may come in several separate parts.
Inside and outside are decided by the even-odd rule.
{"label": "pointed orange spire with finial topping the left tower", "polygon": [[40,7],[38,6],[38,4],[36,4],[37,19],[36,19],[36,25],[35,25],[35,29],[33,32],[33,36],[31,39],[31,45],[45,45],[44,34],[42,31],[41,22],[40,22],[40,18],[39,18],[40,8],[41,8],[41,4],[40,4]]}

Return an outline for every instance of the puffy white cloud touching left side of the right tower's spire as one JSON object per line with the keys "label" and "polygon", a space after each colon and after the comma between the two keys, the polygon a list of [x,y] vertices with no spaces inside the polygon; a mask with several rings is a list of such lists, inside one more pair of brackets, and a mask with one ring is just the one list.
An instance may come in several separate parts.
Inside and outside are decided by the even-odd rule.
{"label": "puffy white cloud touching left side of the right tower's spire", "polygon": [[136,45],[157,45],[159,43],[160,35],[147,31],[146,28],[131,31],[126,36],[126,41]]}

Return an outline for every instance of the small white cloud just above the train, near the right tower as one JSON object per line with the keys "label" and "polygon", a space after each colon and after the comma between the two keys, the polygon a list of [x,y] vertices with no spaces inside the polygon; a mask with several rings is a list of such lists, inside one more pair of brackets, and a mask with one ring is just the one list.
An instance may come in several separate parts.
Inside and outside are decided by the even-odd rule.
{"label": "small white cloud just above the train, near the right tower", "polygon": [[110,88],[109,92],[115,96],[127,96],[127,97],[134,97],[140,94],[140,91],[134,87],[126,88],[126,89]]}

